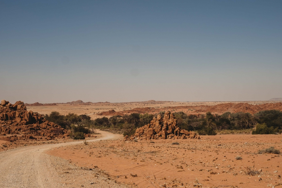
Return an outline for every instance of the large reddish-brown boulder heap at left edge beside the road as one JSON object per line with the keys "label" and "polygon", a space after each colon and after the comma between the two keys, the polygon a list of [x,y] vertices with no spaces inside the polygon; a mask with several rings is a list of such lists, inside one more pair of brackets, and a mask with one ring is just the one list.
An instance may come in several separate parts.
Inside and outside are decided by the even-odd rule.
{"label": "large reddish-brown boulder heap at left edge beside the road", "polygon": [[0,105],[0,134],[21,134],[22,139],[54,139],[69,136],[69,131],[45,120],[42,115],[27,111],[24,102],[15,104],[2,100]]}

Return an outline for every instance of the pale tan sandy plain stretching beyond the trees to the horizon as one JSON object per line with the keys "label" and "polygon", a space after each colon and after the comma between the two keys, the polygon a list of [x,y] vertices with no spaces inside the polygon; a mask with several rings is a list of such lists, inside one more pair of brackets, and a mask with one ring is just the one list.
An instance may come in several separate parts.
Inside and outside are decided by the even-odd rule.
{"label": "pale tan sandy plain stretching beyond the trees to the horizon", "polygon": [[[229,101],[230,102],[230,101]],[[156,108],[155,112],[157,113],[161,111],[161,108],[164,107],[176,107],[176,106],[199,106],[199,105],[216,105],[229,103],[225,102],[165,102],[165,103],[157,103],[157,104],[140,104],[140,103],[93,103],[91,105],[79,105],[79,104],[57,104],[56,106],[31,106],[27,107],[27,110],[32,110],[33,112],[38,112],[40,114],[50,114],[52,111],[60,112],[60,114],[66,115],[70,113],[77,113],[78,115],[87,114],[92,119],[101,118],[95,113],[105,112],[109,110],[115,110],[116,112],[121,112],[125,110],[131,110],[137,107],[154,107]],[[231,101],[232,103],[238,103],[236,101]],[[242,102],[242,101],[241,101]],[[263,103],[275,103],[277,101],[243,101],[248,104],[263,104]],[[160,110],[158,110],[160,108]],[[183,111],[185,113],[192,113],[192,109],[170,109],[173,112]],[[106,116],[110,117],[110,116]]]}

